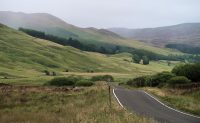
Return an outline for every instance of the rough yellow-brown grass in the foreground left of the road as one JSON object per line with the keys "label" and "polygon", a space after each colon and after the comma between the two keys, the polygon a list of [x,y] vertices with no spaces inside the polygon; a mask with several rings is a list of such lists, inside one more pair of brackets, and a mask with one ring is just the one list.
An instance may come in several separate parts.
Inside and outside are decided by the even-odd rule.
{"label": "rough yellow-brown grass in the foreground left of the road", "polygon": [[[6,90],[6,91],[5,91]],[[107,85],[75,91],[51,91],[31,87],[1,88],[0,119],[2,123],[151,123],[152,119],[130,114],[114,98],[109,108]]]}

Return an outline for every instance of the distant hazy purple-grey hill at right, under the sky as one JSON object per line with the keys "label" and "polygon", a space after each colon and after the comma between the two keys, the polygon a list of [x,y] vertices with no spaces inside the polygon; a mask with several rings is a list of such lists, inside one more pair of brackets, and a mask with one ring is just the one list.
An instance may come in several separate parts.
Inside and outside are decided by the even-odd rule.
{"label": "distant hazy purple-grey hill at right, under the sky", "polygon": [[141,40],[156,46],[170,43],[200,46],[200,23],[144,29],[110,28],[108,30],[123,37]]}

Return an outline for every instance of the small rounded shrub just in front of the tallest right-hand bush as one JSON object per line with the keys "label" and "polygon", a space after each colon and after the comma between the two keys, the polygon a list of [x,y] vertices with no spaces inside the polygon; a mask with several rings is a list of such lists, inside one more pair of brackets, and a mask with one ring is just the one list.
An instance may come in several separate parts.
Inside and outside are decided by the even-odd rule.
{"label": "small rounded shrub just in front of the tallest right-hand bush", "polygon": [[176,76],[176,77],[172,77],[171,79],[169,79],[167,81],[167,83],[169,85],[175,85],[175,84],[187,84],[190,83],[191,81],[186,78],[185,76]]}

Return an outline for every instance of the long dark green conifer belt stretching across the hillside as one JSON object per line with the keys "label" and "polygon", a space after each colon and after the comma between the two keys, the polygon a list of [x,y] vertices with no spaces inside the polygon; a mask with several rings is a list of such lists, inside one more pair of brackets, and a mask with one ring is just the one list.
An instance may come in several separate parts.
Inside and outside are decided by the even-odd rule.
{"label": "long dark green conifer belt stretching across the hillside", "polygon": [[[42,31],[37,31],[33,29],[19,28],[20,31],[27,33],[36,38],[41,38],[45,40],[49,40],[64,46],[72,46],[74,48],[83,50],[83,51],[91,51],[91,52],[99,52],[103,54],[116,54],[121,52],[128,52],[133,54],[133,61],[135,63],[139,63],[143,60],[143,64],[148,64],[149,60],[174,60],[174,61],[185,61],[186,59],[190,62],[200,61],[199,55],[161,55],[151,51],[147,51],[144,49],[135,49],[132,47],[126,46],[118,46],[113,44],[87,44],[82,43],[77,39],[73,39],[71,37],[62,38],[50,34],[46,34]],[[139,62],[138,62],[139,61]]]}

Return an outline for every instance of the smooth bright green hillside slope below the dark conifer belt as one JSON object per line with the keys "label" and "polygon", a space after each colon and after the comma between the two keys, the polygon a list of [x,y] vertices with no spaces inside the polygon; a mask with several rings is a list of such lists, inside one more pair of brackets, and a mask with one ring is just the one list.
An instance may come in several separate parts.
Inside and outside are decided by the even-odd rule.
{"label": "smooth bright green hillside slope below the dark conifer belt", "polygon": [[[156,68],[156,69],[155,69]],[[144,66],[131,62],[131,54],[104,55],[85,52],[37,39],[0,25],[0,76],[30,77],[43,75],[44,70],[59,74],[70,72],[120,73],[132,77],[168,71],[165,63],[151,62]],[[118,76],[118,74],[116,74]]]}

